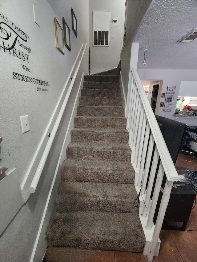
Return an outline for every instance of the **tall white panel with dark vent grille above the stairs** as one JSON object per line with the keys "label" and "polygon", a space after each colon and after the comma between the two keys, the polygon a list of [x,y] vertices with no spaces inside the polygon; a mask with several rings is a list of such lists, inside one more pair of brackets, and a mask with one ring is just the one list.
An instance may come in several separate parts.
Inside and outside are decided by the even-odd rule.
{"label": "tall white panel with dark vent grille above the stairs", "polygon": [[93,11],[93,46],[109,46],[111,11]]}

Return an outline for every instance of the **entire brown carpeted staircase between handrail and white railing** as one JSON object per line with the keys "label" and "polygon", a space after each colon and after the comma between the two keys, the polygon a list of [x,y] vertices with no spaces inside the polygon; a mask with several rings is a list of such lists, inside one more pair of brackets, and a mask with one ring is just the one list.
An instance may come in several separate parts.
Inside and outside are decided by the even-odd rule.
{"label": "entire brown carpeted staircase between handrail and white railing", "polygon": [[119,70],[85,76],[48,246],[143,251]]}

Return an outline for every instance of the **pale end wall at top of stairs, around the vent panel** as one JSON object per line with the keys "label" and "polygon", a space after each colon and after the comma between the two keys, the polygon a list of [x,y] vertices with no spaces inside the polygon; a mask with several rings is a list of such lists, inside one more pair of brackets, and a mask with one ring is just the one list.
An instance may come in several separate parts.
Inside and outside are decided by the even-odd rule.
{"label": "pale end wall at top of stairs, around the vent panel", "polygon": [[[89,1],[90,73],[107,71],[117,67],[123,46],[125,0]],[[111,19],[118,18],[118,27],[111,27],[109,46],[92,46],[92,11],[111,11]]]}

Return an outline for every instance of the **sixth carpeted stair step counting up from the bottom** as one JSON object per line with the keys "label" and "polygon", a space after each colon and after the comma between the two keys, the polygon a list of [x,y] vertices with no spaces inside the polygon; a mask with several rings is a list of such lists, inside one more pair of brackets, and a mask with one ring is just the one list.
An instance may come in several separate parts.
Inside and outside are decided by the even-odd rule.
{"label": "sixth carpeted stair step counting up from the bottom", "polygon": [[74,118],[75,127],[86,128],[126,128],[127,119],[125,117],[96,117],[96,116],[76,116]]}

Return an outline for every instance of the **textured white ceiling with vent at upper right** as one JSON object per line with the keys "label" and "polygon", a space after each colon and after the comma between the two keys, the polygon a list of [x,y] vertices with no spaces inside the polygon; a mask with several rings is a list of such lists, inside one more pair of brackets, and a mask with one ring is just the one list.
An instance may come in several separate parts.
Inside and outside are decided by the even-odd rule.
{"label": "textured white ceiling with vent at upper right", "polygon": [[133,41],[139,43],[138,69],[197,69],[197,38],[177,42],[193,28],[197,28],[197,0],[154,0]]}

